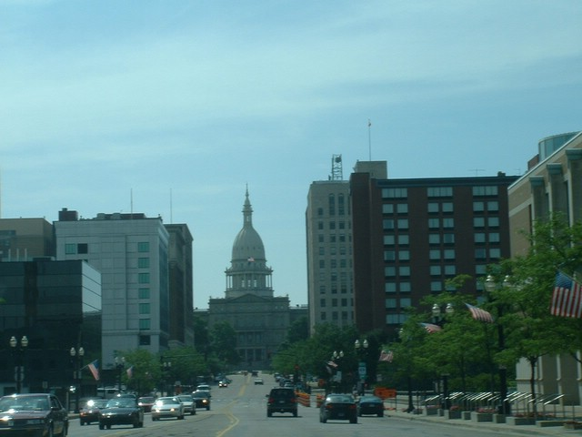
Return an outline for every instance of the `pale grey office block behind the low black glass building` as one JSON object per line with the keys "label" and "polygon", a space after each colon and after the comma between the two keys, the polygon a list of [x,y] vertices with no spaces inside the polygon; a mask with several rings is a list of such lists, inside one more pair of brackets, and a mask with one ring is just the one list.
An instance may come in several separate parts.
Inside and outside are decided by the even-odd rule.
{"label": "pale grey office block behind the low black glass building", "polygon": [[54,226],[57,259],[84,259],[101,272],[103,368],[112,368],[121,351],[166,350],[172,315],[162,219],[134,213],[78,219],[63,209]]}

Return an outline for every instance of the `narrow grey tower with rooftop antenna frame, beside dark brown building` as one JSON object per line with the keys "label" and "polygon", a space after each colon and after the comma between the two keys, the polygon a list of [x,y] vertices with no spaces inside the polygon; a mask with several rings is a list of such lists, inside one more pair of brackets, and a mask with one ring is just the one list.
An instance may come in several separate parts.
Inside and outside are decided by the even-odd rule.
{"label": "narrow grey tower with rooftop antenna frame, beside dark brown building", "polygon": [[[358,161],[356,172],[386,178],[386,161]],[[354,324],[352,211],[341,155],[327,180],[309,187],[306,208],[307,296],[310,329],[317,323]]]}

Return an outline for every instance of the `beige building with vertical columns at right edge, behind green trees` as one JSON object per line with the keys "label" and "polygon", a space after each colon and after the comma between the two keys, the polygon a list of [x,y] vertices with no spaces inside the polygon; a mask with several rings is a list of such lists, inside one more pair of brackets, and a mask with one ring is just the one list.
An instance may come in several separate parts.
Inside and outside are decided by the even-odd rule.
{"label": "beige building with vertical columns at right edge, behind green trees", "polygon": [[[582,220],[582,133],[543,138],[538,153],[530,159],[527,173],[508,188],[511,255],[523,255],[534,221],[548,219],[552,213],[564,214],[570,225]],[[580,272],[582,273],[582,272]],[[561,393],[562,402],[579,404],[582,400],[582,352],[548,356],[537,361],[534,377],[539,393]],[[530,365],[517,364],[517,391],[529,391]]]}

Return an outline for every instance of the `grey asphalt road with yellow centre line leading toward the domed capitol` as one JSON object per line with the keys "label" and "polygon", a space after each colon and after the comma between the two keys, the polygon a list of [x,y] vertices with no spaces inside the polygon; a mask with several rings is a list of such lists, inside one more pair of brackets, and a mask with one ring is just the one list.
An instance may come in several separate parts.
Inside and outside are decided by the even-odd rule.
{"label": "grey asphalt road with yellow centre line leading toward the domed capitol", "polygon": [[[99,430],[96,423],[80,426],[78,419],[71,420],[70,437],[369,437],[371,435],[406,435],[406,437],[461,437],[467,432],[471,437],[491,436],[491,432],[470,430],[462,426],[437,425],[406,421],[394,417],[366,416],[357,424],[347,421],[319,422],[315,406],[299,406],[299,417],[291,414],[274,414],[266,417],[266,394],[275,385],[271,375],[260,375],[265,385],[255,385],[255,378],[243,375],[232,377],[233,383],[223,389],[213,386],[210,411],[198,409],[196,415],[185,420],[176,419],[152,422],[145,416],[144,428],[118,425],[111,430]],[[497,434],[499,435],[499,434]]]}

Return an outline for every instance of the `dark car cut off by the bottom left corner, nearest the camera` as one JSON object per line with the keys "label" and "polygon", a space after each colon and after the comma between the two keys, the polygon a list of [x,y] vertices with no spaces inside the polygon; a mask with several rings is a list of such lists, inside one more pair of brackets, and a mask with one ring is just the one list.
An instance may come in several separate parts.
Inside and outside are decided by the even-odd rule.
{"label": "dark car cut off by the bottom left corner, nearest the camera", "polygon": [[26,393],[0,398],[0,434],[65,437],[69,417],[53,394]]}

